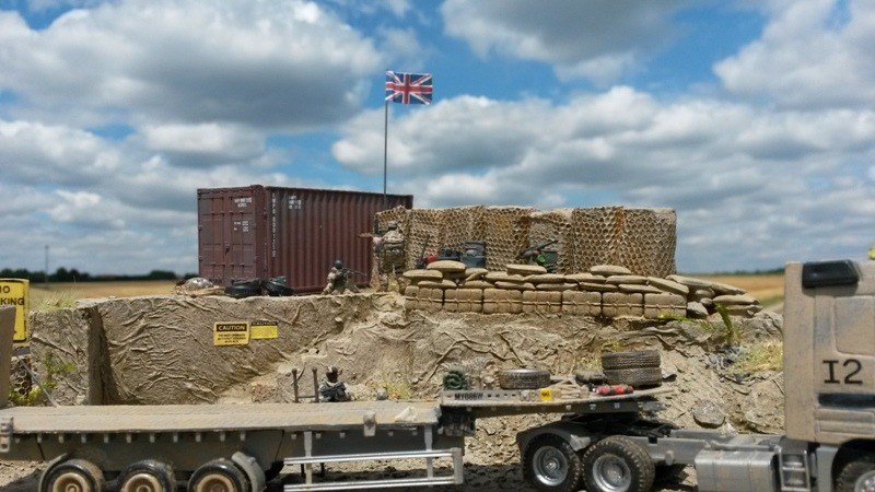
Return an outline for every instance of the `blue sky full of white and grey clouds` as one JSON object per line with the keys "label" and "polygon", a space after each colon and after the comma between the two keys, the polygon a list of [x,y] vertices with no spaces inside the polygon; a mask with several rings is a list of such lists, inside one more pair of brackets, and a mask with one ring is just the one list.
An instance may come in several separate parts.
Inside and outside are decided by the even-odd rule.
{"label": "blue sky full of white and grey clouds", "polygon": [[672,208],[681,272],[875,243],[872,0],[0,0],[0,268],[197,272],[197,189]]}

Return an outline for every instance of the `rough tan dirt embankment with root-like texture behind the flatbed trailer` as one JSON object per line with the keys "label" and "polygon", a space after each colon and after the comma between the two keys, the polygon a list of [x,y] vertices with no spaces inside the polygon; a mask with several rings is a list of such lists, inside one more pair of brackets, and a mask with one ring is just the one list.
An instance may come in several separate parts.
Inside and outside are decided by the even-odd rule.
{"label": "rough tan dirt embankment with root-like texture behind the flatbed trailer", "polygon": [[[273,320],[278,337],[215,347],[213,324],[232,319]],[[675,389],[662,398],[666,409],[660,417],[727,432],[780,432],[783,425],[781,374],[735,374],[726,365],[731,358],[719,350],[726,329],[719,317],[660,321],[428,313],[405,309],[400,296],[358,294],[108,300],[34,320],[37,368],[49,353],[78,367],[55,375],[60,379],[56,399],[66,403],[291,401],[292,368],[308,376],[312,367],[322,372],[329,364],[343,371],[341,378],[357,398],[372,398],[385,387],[395,396],[430,399],[451,367],[465,367],[491,384],[500,368],[571,375],[595,368],[603,351],[651,348],[661,351],[670,379],[666,385]],[[765,312],[733,318],[732,328],[744,343],[756,345],[778,337],[780,325],[780,317]],[[515,434],[552,418],[479,421],[477,436],[467,441],[467,488],[518,490]],[[0,485],[33,490],[5,488],[14,476],[32,471],[33,465],[2,464]]]}

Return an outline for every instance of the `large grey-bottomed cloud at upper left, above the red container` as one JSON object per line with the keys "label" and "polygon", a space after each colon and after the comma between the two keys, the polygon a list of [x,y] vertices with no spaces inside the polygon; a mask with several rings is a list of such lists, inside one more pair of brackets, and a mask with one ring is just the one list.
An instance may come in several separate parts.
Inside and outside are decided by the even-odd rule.
{"label": "large grey-bottomed cloud at upper left, above the red container", "polygon": [[0,85],[21,117],[312,129],[352,115],[382,68],[370,39],[298,0],[128,0],[42,31],[0,14]]}

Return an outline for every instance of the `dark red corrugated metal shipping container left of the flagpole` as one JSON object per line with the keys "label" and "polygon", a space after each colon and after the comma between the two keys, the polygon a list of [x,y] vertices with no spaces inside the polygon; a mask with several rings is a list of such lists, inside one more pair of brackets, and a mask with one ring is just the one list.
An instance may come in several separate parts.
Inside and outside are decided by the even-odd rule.
{"label": "dark red corrugated metal shipping container left of the flagpole", "polygon": [[374,215],[413,207],[411,195],[253,185],[198,189],[198,271],[218,285],[284,276],[295,292],[317,292],[336,259],[370,282]]}

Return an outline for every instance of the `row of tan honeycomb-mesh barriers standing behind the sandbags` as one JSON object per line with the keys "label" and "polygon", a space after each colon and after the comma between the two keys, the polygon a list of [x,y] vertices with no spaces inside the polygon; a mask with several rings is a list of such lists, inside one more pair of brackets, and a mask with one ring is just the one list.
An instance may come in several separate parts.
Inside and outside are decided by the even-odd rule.
{"label": "row of tan honeycomb-mesh barriers standing behind the sandbags", "polygon": [[489,270],[503,270],[518,262],[523,249],[550,241],[556,241],[548,249],[558,254],[559,273],[621,265],[637,274],[666,277],[676,268],[677,219],[672,209],[396,208],[380,212],[376,220],[381,230],[398,222],[407,238],[407,269],[415,268],[423,247],[427,253],[460,250],[469,241],[486,242]]}

